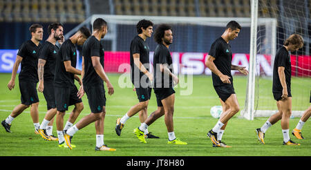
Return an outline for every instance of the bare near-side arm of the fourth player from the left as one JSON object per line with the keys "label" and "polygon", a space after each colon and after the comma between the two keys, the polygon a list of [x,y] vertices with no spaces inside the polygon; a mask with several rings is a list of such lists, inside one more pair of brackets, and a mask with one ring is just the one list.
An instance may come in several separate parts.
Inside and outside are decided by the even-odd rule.
{"label": "bare near-side arm of the fourth player from the left", "polygon": [[107,77],[104,71],[104,68],[102,68],[102,64],[100,64],[100,57],[92,56],[91,60],[92,60],[93,67],[97,75],[99,75],[104,80],[104,82],[106,82],[107,88],[108,88],[108,94],[113,95],[114,93],[113,86],[111,82],[109,81],[109,78]]}

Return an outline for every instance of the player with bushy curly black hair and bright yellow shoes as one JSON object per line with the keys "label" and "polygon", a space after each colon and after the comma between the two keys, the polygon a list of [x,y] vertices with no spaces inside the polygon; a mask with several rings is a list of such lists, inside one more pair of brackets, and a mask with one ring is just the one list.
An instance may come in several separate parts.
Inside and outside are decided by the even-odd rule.
{"label": "player with bushy curly black hair and bright yellow shoes", "polygon": [[173,43],[173,32],[171,26],[161,24],[156,29],[154,35],[155,41],[158,43],[153,54],[153,91],[156,94],[158,109],[138,128],[134,129],[134,133],[140,142],[147,143],[144,138],[144,131],[159,117],[164,115],[164,122],[167,126],[169,135],[168,144],[187,144],[176,138],[173,129],[173,112],[175,102],[175,91],[173,86],[178,84],[178,77],[173,74],[173,62],[169,52],[169,45]]}

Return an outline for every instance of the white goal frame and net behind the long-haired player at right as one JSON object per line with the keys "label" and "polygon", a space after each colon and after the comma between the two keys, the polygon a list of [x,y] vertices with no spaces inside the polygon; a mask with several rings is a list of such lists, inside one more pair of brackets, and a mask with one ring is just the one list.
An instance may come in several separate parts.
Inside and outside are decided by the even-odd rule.
{"label": "white goal frame and net behind the long-haired player at right", "polygon": [[[257,4],[256,4],[257,3]],[[311,90],[311,56],[310,56],[310,1],[308,0],[253,0],[252,13],[260,19],[276,19],[276,27],[259,26],[256,28],[256,50],[254,72],[249,72],[247,95],[244,110],[241,111],[247,120],[254,117],[268,117],[277,111],[276,101],[272,95],[272,73],[276,50],[290,35],[296,33],[303,37],[304,46],[296,53],[290,53],[292,65],[292,115],[299,117],[310,106]],[[254,7],[254,8],[253,8]],[[251,40],[252,41],[252,40]],[[273,45],[271,46],[272,43]],[[252,48],[251,48],[252,50]],[[262,62],[269,65],[262,67]],[[254,77],[252,77],[252,74]]]}

